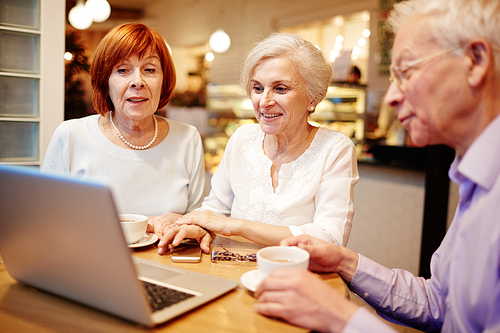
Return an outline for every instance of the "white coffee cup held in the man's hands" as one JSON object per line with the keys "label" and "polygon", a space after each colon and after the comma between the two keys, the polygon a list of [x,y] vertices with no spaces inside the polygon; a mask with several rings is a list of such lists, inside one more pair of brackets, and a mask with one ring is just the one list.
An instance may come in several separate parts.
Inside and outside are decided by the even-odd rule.
{"label": "white coffee cup held in the man's hands", "polygon": [[296,246],[269,246],[257,251],[257,265],[262,278],[275,269],[309,267],[309,252]]}

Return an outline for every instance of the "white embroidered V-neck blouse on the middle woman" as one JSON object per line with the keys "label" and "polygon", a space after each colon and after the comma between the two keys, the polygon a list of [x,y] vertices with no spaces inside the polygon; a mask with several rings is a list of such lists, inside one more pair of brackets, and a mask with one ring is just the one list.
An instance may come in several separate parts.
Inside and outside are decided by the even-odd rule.
{"label": "white embroidered V-neck blouse on the middle woman", "polygon": [[310,147],[281,166],[274,191],[272,161],[264,154],[263,140],[259,124],[236,130],[199,210],[288,226],[294,236],[309,234],[346,245],[354,216],[353,190],[359,180],[352,141],[320,127]]}

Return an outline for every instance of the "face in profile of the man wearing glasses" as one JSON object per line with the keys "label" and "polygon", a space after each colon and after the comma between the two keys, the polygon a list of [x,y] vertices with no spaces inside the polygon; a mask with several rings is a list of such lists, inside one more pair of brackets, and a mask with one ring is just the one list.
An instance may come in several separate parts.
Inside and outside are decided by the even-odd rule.
{"label": "face in profile of the man wearing glasses", "polygon": [[[409,62],[443,51],[429,38],[426,20],[413,15],[396,36],[391,65],[405,68]],[[463,64],[463,57],[444,53],[405,70],[405,80],[399,87],[391,83],[385,102],[397,108],[398,120],[415,145],[453,146],[456,138],[452,124],[467,105]]]}

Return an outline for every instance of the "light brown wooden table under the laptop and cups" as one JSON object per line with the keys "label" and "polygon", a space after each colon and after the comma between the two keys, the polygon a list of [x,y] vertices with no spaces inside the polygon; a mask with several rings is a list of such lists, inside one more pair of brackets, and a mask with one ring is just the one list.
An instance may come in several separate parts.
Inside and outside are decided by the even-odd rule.
{"label": "light brown wooden table under the laptop and cups", "polygon": [[[217,236],[213,250],[222,244],[240,254],[255,253],[262,246],[239,237]],[[156,245],[134,250],[133,255],[163,264],[239,281],[241,275],[257,268],[256,263],[212,263],[203,255],[198,264],[170,261],[160,256]],[[1,258],[0,258],[1,261]],[[345,283],[337,274],[318,275],[349,297]],[[0,331],[6,332],[304,332],[281,320],[267,318],[252,309],[255,299],[243,286],[212,302],[179,316],[154,329],[146,329],[60,297],[17,283],[0,265]]]}

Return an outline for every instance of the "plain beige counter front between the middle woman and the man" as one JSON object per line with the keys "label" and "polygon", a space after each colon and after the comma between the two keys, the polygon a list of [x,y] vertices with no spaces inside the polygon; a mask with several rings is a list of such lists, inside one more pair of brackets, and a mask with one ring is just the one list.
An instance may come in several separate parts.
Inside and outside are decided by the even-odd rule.
{"label": "plain beige counter front between the middle woman and the man", "polygon": [[388,268],[418,274],[425,172],[359,165],[347,247]]}

